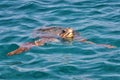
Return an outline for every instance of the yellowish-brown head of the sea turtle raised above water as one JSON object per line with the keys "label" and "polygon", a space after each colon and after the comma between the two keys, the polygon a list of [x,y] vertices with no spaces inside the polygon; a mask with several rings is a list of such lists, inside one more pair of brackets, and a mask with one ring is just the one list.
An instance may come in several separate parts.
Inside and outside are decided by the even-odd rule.
{"label": "yellowish-brown head of the sea turtle raised above water", "polygon": [[63,39],[74,38],[74,30],[72,28],[66,28],[60,33],[60,37]]}

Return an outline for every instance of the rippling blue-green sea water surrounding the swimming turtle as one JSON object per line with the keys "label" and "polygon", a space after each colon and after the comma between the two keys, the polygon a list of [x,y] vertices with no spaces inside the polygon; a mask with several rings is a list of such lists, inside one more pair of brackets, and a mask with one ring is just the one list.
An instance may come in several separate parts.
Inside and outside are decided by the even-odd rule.
{"label": "rippling blue-green sea water surrounding the swimming turtle", "polygon": [[[47,43],[6,55],[44,26],[72,27],[117,48]],[[1,0],[0,80],[120,80],[120,0]]]}

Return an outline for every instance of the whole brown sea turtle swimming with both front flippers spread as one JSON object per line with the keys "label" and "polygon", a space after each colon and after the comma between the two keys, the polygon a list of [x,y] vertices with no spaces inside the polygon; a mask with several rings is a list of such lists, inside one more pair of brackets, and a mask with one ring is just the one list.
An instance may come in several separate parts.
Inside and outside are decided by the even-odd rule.
{"label": "whole brown sea turtle swimming with both front flippers spread", "polygon": [[[80,41],[85,42],[89,44],[96,44],[94,42],[88,41],[87,39],[82,38],[78,32],[73,30],[72,28],[62,28],[62,27],[47,27],[43,29],[37,29],[36,35],[39,35],[39,40],[36,40],[34,42],[28,42],[21,45],[18,49],[8,53],[9,56],[20,54],[22,52],[25,52],[29,49],[31,49],[34,46],[43,46],[45,43],[48,42],[58,42],[61,39],[66,41]],[[104,46],[107,48],[115,48],[115,46],[108,45],[108,44],[96,44],[100,46]]]}

